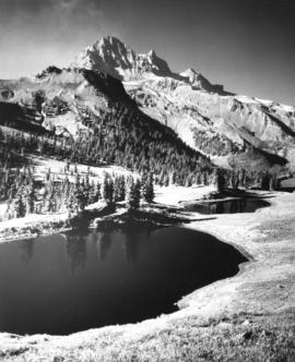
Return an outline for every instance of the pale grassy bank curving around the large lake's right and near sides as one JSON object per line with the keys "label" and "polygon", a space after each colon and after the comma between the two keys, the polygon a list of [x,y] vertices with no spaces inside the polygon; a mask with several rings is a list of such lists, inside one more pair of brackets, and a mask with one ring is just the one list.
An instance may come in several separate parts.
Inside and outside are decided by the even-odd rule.
{"label": "pale grassy bank curving around the large lake's right and near sides", "polygon": [[294,361],[295,193],[269,196],[272,206],[258,210],[259,218],[221,215],[189,225],[234,243],[251,261],[237,276],[184,298],[179,312],[67,337],[2,334],[0,360]]}

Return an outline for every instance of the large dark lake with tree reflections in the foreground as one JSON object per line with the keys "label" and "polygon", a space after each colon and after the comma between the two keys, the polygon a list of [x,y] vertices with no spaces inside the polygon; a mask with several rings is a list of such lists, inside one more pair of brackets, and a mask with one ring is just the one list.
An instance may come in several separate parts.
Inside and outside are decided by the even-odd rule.
{"label": "large dark lake with tree reflections in the foreground", "polygon": [[246,258],[179,227],[68,233],[0,245],[0,331],[69,334],[176,311]]}

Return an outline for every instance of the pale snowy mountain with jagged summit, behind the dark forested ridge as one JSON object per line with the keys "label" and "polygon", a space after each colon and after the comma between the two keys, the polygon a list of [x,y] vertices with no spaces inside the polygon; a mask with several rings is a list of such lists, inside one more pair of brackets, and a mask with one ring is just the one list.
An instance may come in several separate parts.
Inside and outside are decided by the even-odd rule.
{"label": "pale snowy mountain with jagged summit, behind the dark forested ridge", "polygon": [[88,47],[73,65],[103,69],[122,80],[142,111],[217,164],[226,166],[233,155],[238,161],[246,150],[255,150],[261,159],[276,155],[295,167],[293,107],[231,94],[192,69],[173,73],[154,51],[137,55],[114,37]]}

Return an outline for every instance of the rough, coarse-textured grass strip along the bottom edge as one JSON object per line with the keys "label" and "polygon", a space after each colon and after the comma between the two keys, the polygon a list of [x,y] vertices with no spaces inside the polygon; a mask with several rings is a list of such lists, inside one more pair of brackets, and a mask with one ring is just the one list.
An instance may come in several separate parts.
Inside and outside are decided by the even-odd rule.
{"label": "rough, coarse-textured grass strip along the bottom edge", "polygon": [[[295,360],[294,310],[273,315],[239,313],[219,318],[176,318],[163,328],[128,338],[125,330],[55,346],[31,338],[2,350],[1,361],[290,361]],[[17,337],[16,337],[17,338]],[[49,340],[51,337],[48,337]],[[46,338],[45,338],[46,339]],[[84,339],[84,338],[82,338]],[[67,345],[67,343],[66,343]]]}

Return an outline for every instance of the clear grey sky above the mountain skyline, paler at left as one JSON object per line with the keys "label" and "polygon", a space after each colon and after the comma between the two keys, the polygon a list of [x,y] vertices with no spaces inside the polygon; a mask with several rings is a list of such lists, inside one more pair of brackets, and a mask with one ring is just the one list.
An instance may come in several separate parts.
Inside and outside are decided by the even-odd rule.
{"label": "clear grey sky above the mountain skyline, paler at left", "polygon": [[295,106],[294,0],[0,0],[0,79],[68,67],[102,36]]}

